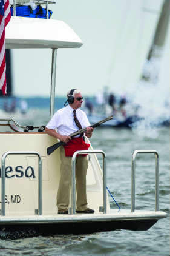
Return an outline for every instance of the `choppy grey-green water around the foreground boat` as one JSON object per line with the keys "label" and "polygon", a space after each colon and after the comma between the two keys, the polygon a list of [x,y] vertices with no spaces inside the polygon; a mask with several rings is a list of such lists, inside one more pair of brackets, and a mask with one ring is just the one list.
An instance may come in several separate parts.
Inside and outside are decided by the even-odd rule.
{"label": "choppy grey-green water around the foreground boat", "polygon": [[[42,104],[44,105],[44,104]],[[47,106],[45,106],[47,107]],[[46,124],[47,109],[37,110],[36,123]],[[18,120],[17,120],[18,121]],[[28,119],[21,124],[30,124]],[[140,136],[130,129],[97,127],[91,138],[94,149],[107,156],[108,188],[122,209],[131,207],[131,156],[137,149],[154,149],[160,157],[159,208],[168,217],[148,231],[118,229],[86,235],[54,235],[17,240],[0,240],[0,255],[169,255],[169,128],[157,129],[157,137]],[[100,163],[102,159],[99,157]],[[154,155],[136,158],[136,209],[154,209]],[[117,208],[110,198],[110,206]]]}

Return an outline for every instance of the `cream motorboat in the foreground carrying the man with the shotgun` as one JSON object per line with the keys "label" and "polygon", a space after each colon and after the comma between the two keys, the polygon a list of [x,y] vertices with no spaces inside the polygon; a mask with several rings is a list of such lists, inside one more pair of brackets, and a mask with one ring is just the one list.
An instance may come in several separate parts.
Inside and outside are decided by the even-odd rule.
{"label": "cream motorboat in the foreground carrying the man with the shotgun", "polygon": [[[64,21],[11,16],[5,29],[5,45],[7,49],[52,49],[51,118],[54,114],[57,50],[79,48],[83,45],[82,40]],[[95,213],[76,213],[75,160],[77,154],[87,153],[77,151],[72,158],[69,214],[57,214],[56,192],[60,177],[60,156],[59,150],[47,155],[47,147],[55,144],[56,139],[45,133],[44,129],[45,126],[23,126],[12,116],[0,116],[1,238],[85,234],[115,229],[145,231],[158,220],[166,218],[166,213],[159,211],[158,152],[136,150],[133,153],[131,209],[111,209],[106,185],[106,154],[102,150],[94,150],[92,146],[88,150],[87,198]],[[87,138],[86,140],[89,142]],[[135,160],[138,153],[151,153],[156,158],[155,209],[151,211],[135,209]],[[97,159],[99,154],[103,157],[102,167]]]}

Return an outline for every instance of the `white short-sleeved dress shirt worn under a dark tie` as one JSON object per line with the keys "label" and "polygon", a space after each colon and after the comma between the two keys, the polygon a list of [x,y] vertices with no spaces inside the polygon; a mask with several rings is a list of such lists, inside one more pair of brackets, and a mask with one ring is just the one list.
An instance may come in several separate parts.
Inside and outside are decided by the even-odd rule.
{"label": "white short-sleeved dress shirt worn under a dark tie", "polygon": [[[67,107],[63,107],[62,109],[57,110],[46,127],[48,129],[57,129],[57,132],[60,133],[60,135],[68,136],[71,133],[76,132],[79,130],[79,127],[76,126],[74,121],[73,110],[74,109],[72,109],[69,104]],[[90,126],[87,115],[83,110],[77,109],[76,116],[82,125],[82,128]]]}

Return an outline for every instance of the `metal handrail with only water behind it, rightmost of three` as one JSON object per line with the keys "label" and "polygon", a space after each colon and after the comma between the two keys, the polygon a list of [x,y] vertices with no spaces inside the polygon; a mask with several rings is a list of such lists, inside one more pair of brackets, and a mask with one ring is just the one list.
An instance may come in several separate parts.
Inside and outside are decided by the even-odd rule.
{"label": "metal handrail with only water behind it, rightmost of three", "polygon": [[132,154],[132,170],[131,170],[131,212],[135,211],[135,168],[136,155],[138,153],[154,153],[155,154],[155,211],[159,211],[159,154],[156,150],[135,150]]}

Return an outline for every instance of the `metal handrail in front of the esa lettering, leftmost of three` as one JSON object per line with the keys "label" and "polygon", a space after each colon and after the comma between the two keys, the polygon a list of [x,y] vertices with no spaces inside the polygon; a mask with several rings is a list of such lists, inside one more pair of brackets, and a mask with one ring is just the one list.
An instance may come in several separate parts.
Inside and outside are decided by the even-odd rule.
{"label": "metal handrail in front of the esa lettering, leftmost of three", "polygon": [[5,159],[7,155],[37,155],[38,156],[38,215],[42,215],[42,160],[37,152],[32,151],[8,151],[2,155],[2,180],[1,180],[1,215],[5,216]]}

